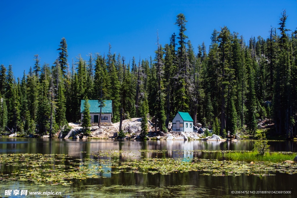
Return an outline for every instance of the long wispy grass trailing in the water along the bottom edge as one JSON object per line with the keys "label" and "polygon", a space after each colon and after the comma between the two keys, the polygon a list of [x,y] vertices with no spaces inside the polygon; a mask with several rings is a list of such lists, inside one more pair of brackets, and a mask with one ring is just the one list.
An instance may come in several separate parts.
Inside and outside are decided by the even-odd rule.
{"label": "long wispy grass trailing in the water along the bottom edge", "polygon": [[[105,197],[105,198],[122,198],[122,197],[217,197],[215,190],[206,187],[192,185],[177,186],[124,186],[124,185],[88,185],[80,186],[76,189],[74,186],[53,186],[53,185],[30,185],[19,182],[9,182],[0,186],[0,190],[10,189],[18,186],[19,189],[27,189],[29,192],[40,191],[40,188],[47,191],[62,192],[60,197]],[[221,192],[226,193],[226,190]],[[34,196],[32,196],[34,197]]]}

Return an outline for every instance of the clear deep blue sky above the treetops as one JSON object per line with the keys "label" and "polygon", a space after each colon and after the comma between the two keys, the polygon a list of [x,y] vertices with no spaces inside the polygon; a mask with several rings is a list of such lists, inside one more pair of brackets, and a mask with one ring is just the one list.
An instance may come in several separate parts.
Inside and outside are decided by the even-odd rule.
{"label": "clear deep blue sky above the treetops", "polygon": [[186,16],[186,35],[195,51],[203,41],[210,44],[214,28],[227,26],[231,32],[267,38],[270,26],[278,27],[282,9],[287,11],[287,28],[297,27],[296,0],[250,1],[8,1],[0,0],[0,64],[12,64],[16,77],[34,65],[52,65],[58,45],[65,37],[68,62],[78,54],[112,52],[138,59],[154,56],[157,30],[162,45],[169,42],[176,15]]}

